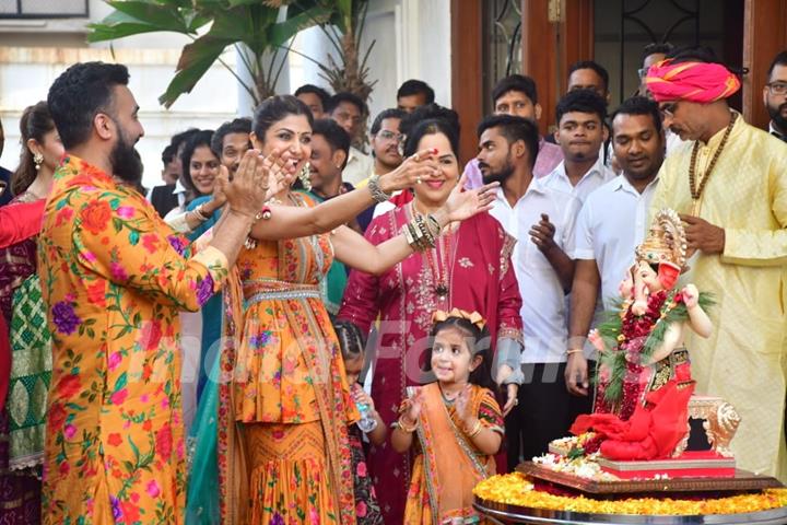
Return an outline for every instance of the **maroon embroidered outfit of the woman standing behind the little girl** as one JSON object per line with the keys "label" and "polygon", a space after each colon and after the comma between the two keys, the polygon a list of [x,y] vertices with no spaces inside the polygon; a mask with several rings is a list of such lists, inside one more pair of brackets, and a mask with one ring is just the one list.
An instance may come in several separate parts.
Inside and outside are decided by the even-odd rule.
{"label": "maroon embroidered outfit of the woman standing behind the little girl", "polygon": [[[380,244],[399,235],[411,219],[412,205],[389,211],[372,221],[366,238]],[[479,312],[488,322],[493,347],[502,335],[521,341],[513,248],[514,240],[503,226],[489,213],[479,213],[455,232],[444,233],[436,248],[413,254],[379,277],[350,272],[339,318],[366,332],[379,314],[372,397],[386,424],[396,421],[407,386],[433,381],[422,370],[436,308]],[[443,279],[448,283],[445,299],[436,293]],[[372,447],[369,464],[386,523],[402,523],[410,458],[386,441]]]}

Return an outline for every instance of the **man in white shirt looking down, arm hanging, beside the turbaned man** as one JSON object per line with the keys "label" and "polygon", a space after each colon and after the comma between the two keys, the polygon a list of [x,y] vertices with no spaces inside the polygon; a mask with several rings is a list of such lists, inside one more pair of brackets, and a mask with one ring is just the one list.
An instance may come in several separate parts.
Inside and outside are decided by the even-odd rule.
{"label": "man in white shirt looking down, arm hanging, beside the turbaned man", "polygon": [[643,96],[625,101],[612,118],[612,144],[622,175],[608,182],[585,200],[577,219],[572,287],[568,360],[565,382],[568,392],[590,405],[588,364],[583,350],[598,302],[604,310],[620,298],[619,287],[634,262],[634,248],[647,231],[648,209],[658,184],[665,156],[665,136],[658,105]]}

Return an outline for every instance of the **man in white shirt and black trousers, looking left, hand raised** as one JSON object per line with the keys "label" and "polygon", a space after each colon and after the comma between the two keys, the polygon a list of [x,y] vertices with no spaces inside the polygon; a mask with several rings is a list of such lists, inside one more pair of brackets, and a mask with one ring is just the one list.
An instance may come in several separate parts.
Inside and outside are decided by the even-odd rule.
{"label": "man in white shirt and black trousers, looking left, hand raised", "polygon": [[579,203],[569,192],[533,177],[539,135],[536,125],[510,115],[479,125],[479,168],[484,184],[498,180],[490,213],[517,240],[512,255],[522,295],[525,383],[506,419],[508,466],[520,456],[547,452],[568,428],[569,397],[564,384],[566,303],[574,261],[566,255]]}

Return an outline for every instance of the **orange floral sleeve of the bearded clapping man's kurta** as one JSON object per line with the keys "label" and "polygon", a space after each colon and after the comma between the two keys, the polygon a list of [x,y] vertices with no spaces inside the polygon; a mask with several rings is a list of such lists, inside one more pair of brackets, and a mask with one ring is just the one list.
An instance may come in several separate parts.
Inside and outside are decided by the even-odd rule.
{"label": "orange floral sleeve of the bearded clapping man's kurta", "polygon": [[[192,257],[186,237],[153,217],[141,197],[95,189],[74,200],[78,260],[105,279],[196,312],[226,278],[224,254],[208,246]],[[142,249],[124,249],[125,245]]]}

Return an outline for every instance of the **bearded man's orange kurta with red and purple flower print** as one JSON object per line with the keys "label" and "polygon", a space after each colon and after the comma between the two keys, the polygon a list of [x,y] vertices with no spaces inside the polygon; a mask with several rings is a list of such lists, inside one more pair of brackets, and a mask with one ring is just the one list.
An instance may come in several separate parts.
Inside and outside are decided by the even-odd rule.
{"label": "bearded man's orange kurta with red and purple flower print", "polygon": [[38,262],[52,334],[44,523],[181,523],[178,311],[218,290],[226,257],[190,257],[141,195],[66,156]]}

